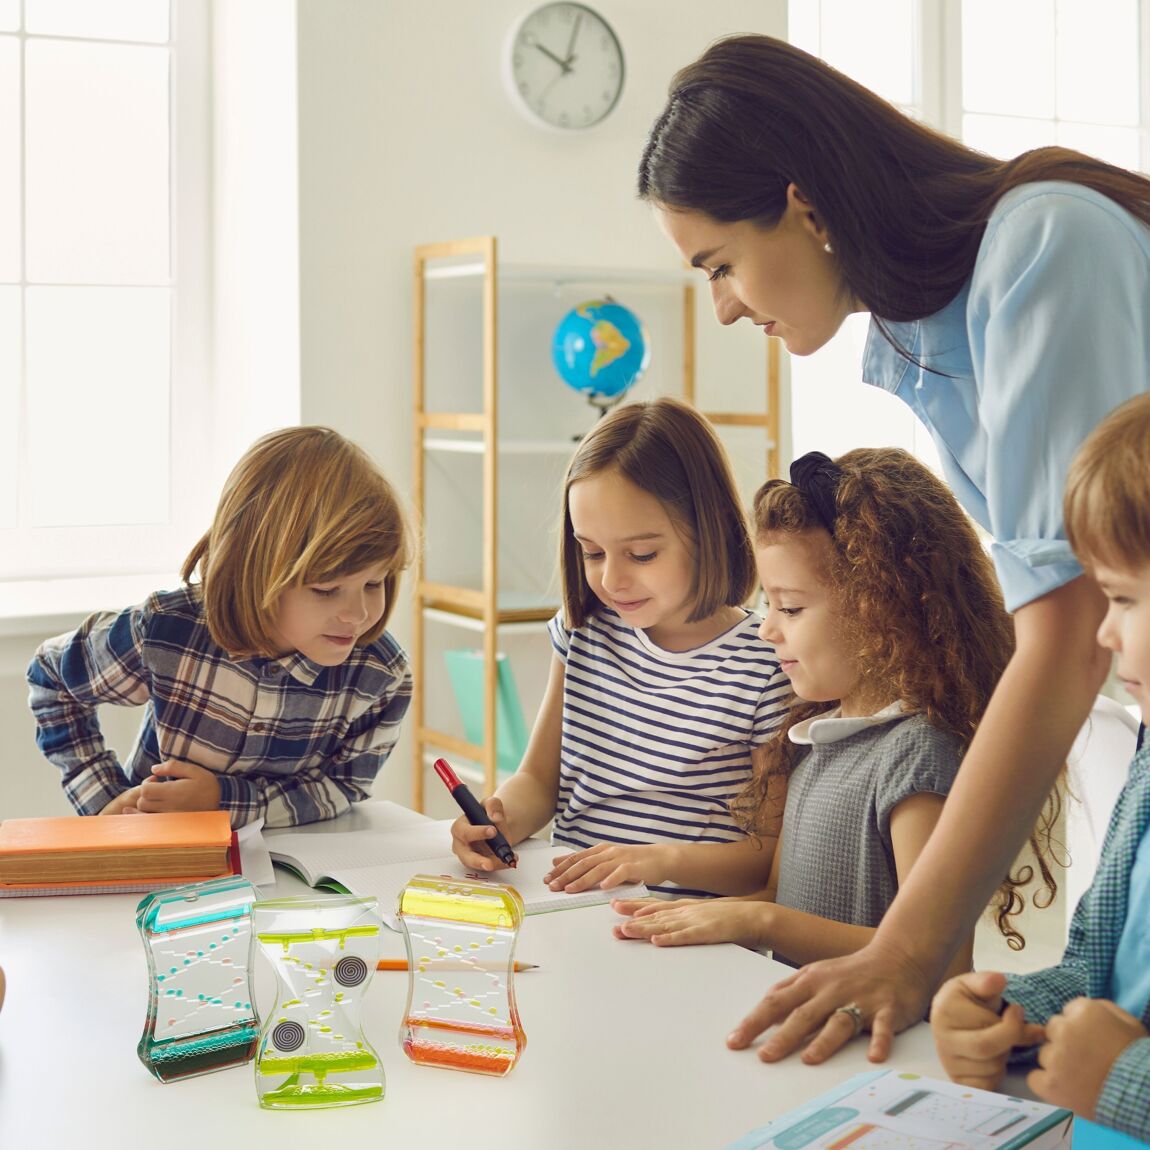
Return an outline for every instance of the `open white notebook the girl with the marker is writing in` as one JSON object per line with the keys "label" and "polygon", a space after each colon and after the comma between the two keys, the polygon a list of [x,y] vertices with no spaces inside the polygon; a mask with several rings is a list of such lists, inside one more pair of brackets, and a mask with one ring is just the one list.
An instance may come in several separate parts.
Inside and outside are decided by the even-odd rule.
{"label": "open white notebook the girl with the marker is writing in", "polygon": [[514,887],[523,898],[528,914],[565,911],[575,906],[593,906],[613,898],[644,898],[642,883],[614,887],[611,890],[584,890],[568,895],[551,890],[543,876],[552,860],[566,853],[538,838],[515,846],[519,866],[514,869],[468,871],[451,853],[451,822],[428,821],[408,830],[381,833],[348,830],[336,834],[286,834],[268,836],[271,858],[294,871],[309,887],[335,887],[353,895],[374,895],[379,902],[379,915],[392,929],[398,929],[396,910],[399,894],[415,874],[442,874],[452,879],[473,879]]}

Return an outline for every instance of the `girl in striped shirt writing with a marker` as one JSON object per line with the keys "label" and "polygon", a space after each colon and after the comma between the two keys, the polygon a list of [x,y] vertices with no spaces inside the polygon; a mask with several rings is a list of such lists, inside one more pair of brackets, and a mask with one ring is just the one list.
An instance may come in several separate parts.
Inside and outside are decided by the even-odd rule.
{"label": "girl in striped shirt writing with a marker", "polygon": [[[743,607],[753,552],[702,415],[660,399],[596,425],[567,471],[560,566],[550,678],[519,770],[486,800],[496,826],[515,843],[554,820],[554,845],[577,852],[557,890],[762,887],[769,845],[730,804],[790,688]],[[493,833],[457,820],[455,853],[496,869]]]}

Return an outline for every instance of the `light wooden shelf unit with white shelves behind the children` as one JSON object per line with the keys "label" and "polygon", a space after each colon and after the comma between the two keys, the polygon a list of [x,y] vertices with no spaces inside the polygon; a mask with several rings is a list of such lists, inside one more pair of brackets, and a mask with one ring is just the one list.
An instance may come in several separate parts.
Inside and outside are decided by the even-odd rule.
{"label": "light wooden shelf unit with white shelves behind the children", "polygon": [[[422,549],[414,570],[415,610],[412,631],[412,716],[415,728],[413,753],[412,803],[423,810],[423,784],[427,764],[434,749],[477,762],[482,769],[484,795],[491,793],[497,780],[497,747],[493,737],[497,708],[498,631],[500,627],[545,623],[558,610],[558,603],[500,603],[497,559],[499,457],[506,453],[554,454],[565,445],[559,440],[514,440],[499,438],[499,282],[538,283],[559,288],[582,284],[601,288],[607,284],[669,285],[682,291],[682,396],[696,402],[695,362],[695,278],[697,273],[627,270],[619,268],[549,268],[498,263],[494,236],[423,244],[414,253],[414,353],[413,353],[413,478],[412,503],[416,522],[425,531],[425,460],[428,452],[467,452],[482,457],[483,470],[483,555],[478,588],[436,583],[427,578]],[[448,262],[442,262],[448,261]],[[427,409],[427,283],[436,279],[480,277],[482,279],[482,396],[481,412],[429,412]],[[779,474],[779,373],[777,340],[767,342],[765,412],[704,412],[716,427],[761,428],[766,436],[766,459],[769,475]],[[439,432],[439,435],[436,435]],[[446,432],[446,435],[445,435]],[[566,444],[574,451],[574,443]],[[427,643],[424,628],[428,613],[439,620],[458,619],[460,626],[482,630],[484,690],[483,745],[470,743],[444,730],[428,726],[427,719]]]}

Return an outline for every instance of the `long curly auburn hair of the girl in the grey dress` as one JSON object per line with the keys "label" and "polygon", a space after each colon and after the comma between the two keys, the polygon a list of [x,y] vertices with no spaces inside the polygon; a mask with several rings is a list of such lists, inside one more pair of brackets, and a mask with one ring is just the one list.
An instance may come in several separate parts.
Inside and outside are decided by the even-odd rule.
{"label": "long curly auburn hair of the girl in the grey dress", "polygon": [[[835,463],[842,475],[826,581],[867,693],[900,700],[965,751],[1014,650],[994,565],[950,489],[910,452],[858,448]],[[812,530],[825,528],[798,488],[770,480],[759,489],[759,546]],[[802,751],[790,728],[833,705],[795,700],[733,805],[743,826],[769,825],[775,812],[768,790],[777,792],[772,783],[790,774]],[[1036,905],[1049,905],[1058,890],[1051,834],[1060,806],[1056,789],[1029,839],[1043,884],[1033,896]],[[1022,888],[1034,877],[1033,866],[1019,867],[992,903],[998,928],[1015,950],[1025,940],[1010,920],[1023,908]]]}

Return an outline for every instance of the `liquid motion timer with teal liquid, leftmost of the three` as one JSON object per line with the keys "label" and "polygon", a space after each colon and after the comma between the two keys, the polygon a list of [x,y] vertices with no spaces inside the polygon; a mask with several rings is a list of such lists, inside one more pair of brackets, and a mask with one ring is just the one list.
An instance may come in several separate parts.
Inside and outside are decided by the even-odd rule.
{"label": "liquid motion timer with teal liquid, leftmost of the three", "polygon": [[248,976],[255,888],[238,875],[156,891],[136,925],[147,951],[147,1019],[137,1052],[161,1081],[225,1070],[255,1053]]}

